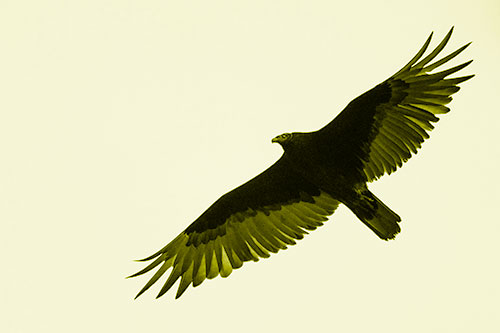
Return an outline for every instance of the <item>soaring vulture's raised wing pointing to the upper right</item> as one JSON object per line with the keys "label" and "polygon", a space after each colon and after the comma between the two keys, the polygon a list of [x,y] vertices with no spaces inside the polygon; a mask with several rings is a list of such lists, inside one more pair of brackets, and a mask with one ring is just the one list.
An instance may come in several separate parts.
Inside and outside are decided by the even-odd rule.
{"label": "soaring vulture's raised wing pointing to the upper right", "polygon": [[[373,181],[390,174],[417,153],[429,137],[436,115],[447,113],[445,105],[460,88],[459,83],[474,75],[446,79],[463,69],[471,61],[430,73],[456,57],[469,44],[437,60],[450,39],[453,28],[443,41],[422,59],[432,33],[418,53],[400,71],[358,98],[328,125],[320,129],[316,138],[324,153],[337,163],[356,169],[359,176]],[[335,147],[332,149],[331,147]],[[342,165],[341,165],[342,166]]]}

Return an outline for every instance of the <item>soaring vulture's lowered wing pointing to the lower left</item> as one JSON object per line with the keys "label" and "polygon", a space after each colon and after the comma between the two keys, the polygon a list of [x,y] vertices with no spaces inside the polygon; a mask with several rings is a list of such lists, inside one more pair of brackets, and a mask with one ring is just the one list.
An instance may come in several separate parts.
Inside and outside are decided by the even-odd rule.
{"label": "soaring vulture's lowered wing pointing to the lower left", "polygon": [[269,169],[225,194],[163,249],[141,261],[153,260],[132,275],[158,270],[136,297],[169,268],[158,297],[181,278],[176,298],[186,288],[217,275],[227,277],[245,261],[267,258],[286,249],[333,214],[339,202],[305,181],[282,157]]}

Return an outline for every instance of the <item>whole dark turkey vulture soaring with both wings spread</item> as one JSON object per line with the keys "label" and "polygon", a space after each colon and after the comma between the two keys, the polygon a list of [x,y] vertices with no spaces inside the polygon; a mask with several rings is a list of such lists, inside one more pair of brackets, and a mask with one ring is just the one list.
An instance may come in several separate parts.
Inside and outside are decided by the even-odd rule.
{"label": "whole dark turkey vulture soaring with both wings spread", "polygon": [[169,268],[170,276],[157,297],[179,279],[176,298],[193,284],[217,275],[227,277],[245,261],[258,261],[286,249],[346,205],[383,240],[400,231],[401,218],[367,188],[367,182],[390,174],[417,153],[429,137],[436,115],[457,86],[473,75],[446,78],[471,61],[430,73],[455,58],[469,44],[431,63],[443,41],[422,58],[432,33],[410,62],[389,79],[351,101],[328,125],[315,132],[285,133],[272,142],[284,150],[281,158],[247,183],[224,194],[153,260],[130,276],[159,267],[136,298]]}

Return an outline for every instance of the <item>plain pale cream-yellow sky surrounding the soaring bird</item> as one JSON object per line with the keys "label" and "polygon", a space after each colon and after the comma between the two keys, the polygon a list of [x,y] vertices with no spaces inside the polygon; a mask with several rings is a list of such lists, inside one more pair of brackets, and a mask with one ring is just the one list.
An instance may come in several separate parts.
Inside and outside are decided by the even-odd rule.
{"label": "plain pale cream-yellow sky surrounding the soaring bird", "polygon": [[[0,331],[499,332],[498,1],[0,3]],[[179,300],[125,276],[435,32],[476,77],[417,156],[298,245]],[[163,280],[162,280],[163,281]]]}

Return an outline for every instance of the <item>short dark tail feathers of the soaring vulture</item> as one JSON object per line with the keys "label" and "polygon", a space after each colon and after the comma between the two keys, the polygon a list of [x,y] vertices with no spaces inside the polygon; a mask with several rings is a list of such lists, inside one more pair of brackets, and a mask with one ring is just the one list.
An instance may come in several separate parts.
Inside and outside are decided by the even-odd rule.
{"label": "short dark tail feathers of the soaring vulture", "polygon": [[368,190],[363,191],[360,201],[353,208],[354,214],[384,240],[393,239],[401,231],[399,215]]}

